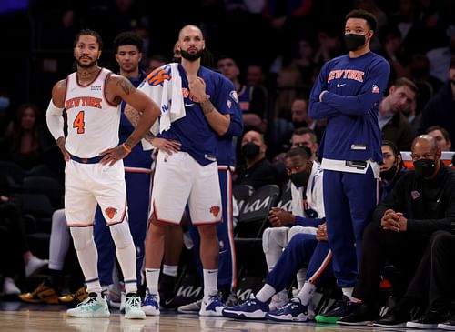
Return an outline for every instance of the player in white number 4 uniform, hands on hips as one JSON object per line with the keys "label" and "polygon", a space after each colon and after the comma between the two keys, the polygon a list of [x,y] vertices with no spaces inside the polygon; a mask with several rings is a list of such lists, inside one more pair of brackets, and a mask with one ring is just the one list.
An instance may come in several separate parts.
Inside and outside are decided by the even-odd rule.
{"label": "player in white number 4 uniform, hands on hips", "polygon": [[[159,116],[158,106],[125,77],[97,65],[103,43],[95,31],[76,35],[76,72],[56,83],[46,113],[49,131],[66,160],[65,214],[86,277],[89,297],[70,317],[108,317],[101,296],[93,238],[96,204],[101,207],[116,244],[126,287],[126,318],[145,318],[136,295],[136,250],[127,225],[124,158]],[[141,110],[136,129],[118,145],[121,101]],[[68,135],[63,132],[66,108]]]}

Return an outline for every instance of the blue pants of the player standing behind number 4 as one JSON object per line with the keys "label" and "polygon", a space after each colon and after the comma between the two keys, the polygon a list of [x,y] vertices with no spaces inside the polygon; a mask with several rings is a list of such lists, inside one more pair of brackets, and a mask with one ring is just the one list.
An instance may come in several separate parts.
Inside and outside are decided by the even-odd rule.
{"label": "blue pants of the player standing behind number 4", "polygon": [[[142,267],[146,251],[148,211],[150,205],[150,175],[125,172],[128,224],[136,246],[137,285],[142,285]],[[102,286],[111,285],[116,246],[99,206],[96,208],[94,236],[98,250],[98,275]]]}

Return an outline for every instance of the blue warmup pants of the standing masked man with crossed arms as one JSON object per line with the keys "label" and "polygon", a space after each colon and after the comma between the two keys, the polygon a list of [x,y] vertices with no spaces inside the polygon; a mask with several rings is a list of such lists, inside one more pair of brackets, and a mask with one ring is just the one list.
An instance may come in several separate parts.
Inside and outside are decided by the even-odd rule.
{"label": "blue warmup pants of the standing masked man with crossed arms", "polygon": [[377,205],[378,180],[371,167],[366,174],[324,170],[323,186],[333,273],[339,287],[354,287],[363,229]]}

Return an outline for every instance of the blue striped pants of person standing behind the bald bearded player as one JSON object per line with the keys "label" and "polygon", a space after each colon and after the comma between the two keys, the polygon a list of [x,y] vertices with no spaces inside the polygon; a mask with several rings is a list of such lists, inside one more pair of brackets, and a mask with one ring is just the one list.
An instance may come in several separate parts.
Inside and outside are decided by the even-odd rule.
{"label": "blue striped pants of person standing behind the bald bearded player", "polygon": [[[226,166],[218,166],[219,186],[221,189],[221,205],[223,220],[217,224],[219,243],[218,257],[218,289],[235,290],[237,282],[236,247],[234,244],[234,225],[232,220],[232,172]],[[187,211],[188,212],[188,211]],[[194,243],[197,270],[202,276],[202,263],[199,257],[200,238],[196,226],[191,225],[191,217],[187,213],[188,228]]]}

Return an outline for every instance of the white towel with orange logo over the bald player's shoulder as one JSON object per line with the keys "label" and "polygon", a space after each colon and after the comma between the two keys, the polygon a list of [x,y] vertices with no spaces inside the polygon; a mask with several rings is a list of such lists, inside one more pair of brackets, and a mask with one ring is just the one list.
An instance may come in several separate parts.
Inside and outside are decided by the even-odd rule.
{"label": "white towel with orange logo over the bald player's shoulder", "polygon": [[[186,115],[178,64],[163,65],[155,69],[138,89],[152,98],[161,109],[161,116],[150,129],[153,135],[167,131],[172,122]],[[142,146],[144,150],[153,148],[145,139],[142,140]]]}

